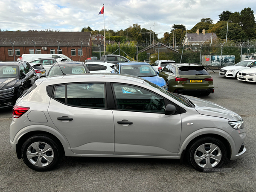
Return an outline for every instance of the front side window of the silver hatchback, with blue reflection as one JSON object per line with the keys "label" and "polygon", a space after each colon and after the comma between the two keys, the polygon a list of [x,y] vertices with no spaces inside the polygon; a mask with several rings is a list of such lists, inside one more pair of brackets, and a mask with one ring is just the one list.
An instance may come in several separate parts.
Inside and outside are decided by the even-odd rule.
{"label": "front side window of the silver hatchback, with blue reflection", "polygon": [[140,87],[113,84],[119,110],[164,113],[165,102],[161,96]]}

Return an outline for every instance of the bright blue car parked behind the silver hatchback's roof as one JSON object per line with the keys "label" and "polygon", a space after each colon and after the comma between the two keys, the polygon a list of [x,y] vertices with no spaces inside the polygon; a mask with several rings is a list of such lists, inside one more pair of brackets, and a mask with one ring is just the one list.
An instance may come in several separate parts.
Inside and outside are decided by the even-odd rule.
{"label": "bright blue car parked behind the silver hatchback's roof", "polygon": [[114,66],[111,73],[127,74],[146,79],[160,87],[168,90],[166,81],[158,75],[158,73],[151,67],[150,64],[131,62],[131,63],[118,63]]}

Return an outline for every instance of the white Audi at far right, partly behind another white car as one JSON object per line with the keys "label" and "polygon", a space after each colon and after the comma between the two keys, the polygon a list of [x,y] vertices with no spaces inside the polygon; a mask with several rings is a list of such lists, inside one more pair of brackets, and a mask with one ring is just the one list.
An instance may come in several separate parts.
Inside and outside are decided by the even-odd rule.
{"label": "white Audi at far right, partly behind another white car", "polygon": [[238,72],[243,69],[247,69],[247,67],[250,67],[250,66],[256,66],[255,59],[244,60],[244,61],[240,61],[235,65],[223,67],[219,71],[219,76],[232,77],[237,79]]}

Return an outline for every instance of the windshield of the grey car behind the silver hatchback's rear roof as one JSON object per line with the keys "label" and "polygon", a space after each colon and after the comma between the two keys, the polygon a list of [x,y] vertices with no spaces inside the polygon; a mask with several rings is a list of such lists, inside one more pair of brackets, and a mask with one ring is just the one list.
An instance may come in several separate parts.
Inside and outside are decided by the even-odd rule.
{"label": "windshield of the grey car behind the silver hatchback's rear roof", "polygon": [[84,74],[86,70],[84,66],[59,66],[58,64],[52,66],[49,70],[48,76],[58,76],[58,75],[67,74]]}

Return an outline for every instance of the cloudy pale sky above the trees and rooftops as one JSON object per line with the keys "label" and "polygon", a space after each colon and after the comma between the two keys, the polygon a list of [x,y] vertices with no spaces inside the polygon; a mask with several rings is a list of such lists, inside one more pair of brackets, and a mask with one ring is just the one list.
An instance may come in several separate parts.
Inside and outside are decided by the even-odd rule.
{"label": "cloudy pale sky above the trees and rooftops", "polygon": [[79,32],[90,26],[101,30],[104,19],[98,14],[103,4],[105,29],[117,31],[138,23],[162,38],[173,24],[189,30],[202,18],[216,23],[223,11],[253,10],[255,0],[0,0],[0,29]]}

